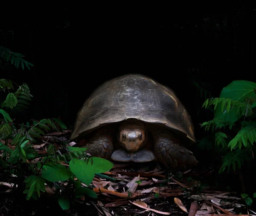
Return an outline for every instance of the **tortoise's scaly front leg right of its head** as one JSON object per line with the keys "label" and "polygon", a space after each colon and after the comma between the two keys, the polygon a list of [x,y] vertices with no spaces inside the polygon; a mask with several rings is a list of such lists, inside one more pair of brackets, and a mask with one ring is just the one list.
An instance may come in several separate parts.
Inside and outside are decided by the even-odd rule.
{"label": "tortoise's scaly front leg right of its head", "polygon": [[163,128],[153,131],[154,154],[167,168],[177,168],[186,171],[195,166],[198,161],[191,151],[184,148],[179,140]]}

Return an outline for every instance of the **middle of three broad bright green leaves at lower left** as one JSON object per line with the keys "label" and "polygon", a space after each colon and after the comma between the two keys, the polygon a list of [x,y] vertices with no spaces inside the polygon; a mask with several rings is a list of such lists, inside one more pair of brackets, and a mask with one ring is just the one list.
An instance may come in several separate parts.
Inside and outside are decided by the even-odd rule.
{"label": "middle of three broad bright green leaves at lower left", "polygon": [[84,159],[73,159],[70,161],[70,170],[76,178],[89,186],[95,175],[94,167]]}

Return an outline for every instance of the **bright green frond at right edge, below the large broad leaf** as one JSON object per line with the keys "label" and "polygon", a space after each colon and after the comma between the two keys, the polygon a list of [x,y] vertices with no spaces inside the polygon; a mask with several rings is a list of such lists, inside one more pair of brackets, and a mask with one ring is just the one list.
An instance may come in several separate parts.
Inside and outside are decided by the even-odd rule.
{"label": "bright green frond at right edge, below the large broad leaf", "polygon": [[228,147],[233,148],[236,145],[241,149],[242,144],[244,147],[247,147],[249,144],[253,145],[253,142],[256,142],[256,126],[246,126],[242,128],[237,135],[230,141]]}

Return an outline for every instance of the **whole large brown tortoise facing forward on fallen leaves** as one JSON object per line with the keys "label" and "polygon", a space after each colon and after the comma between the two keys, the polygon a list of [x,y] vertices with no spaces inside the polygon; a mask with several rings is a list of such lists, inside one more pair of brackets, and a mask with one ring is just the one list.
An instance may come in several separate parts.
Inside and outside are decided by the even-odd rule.
{"label": "whole large brown tortoise facing forward on fallen leaves", "polygon": [[198,161],[192,119],[174,91],[141,74],[106,81],[79,110],[70,140],[116,162],[159,161],[186,169]]}

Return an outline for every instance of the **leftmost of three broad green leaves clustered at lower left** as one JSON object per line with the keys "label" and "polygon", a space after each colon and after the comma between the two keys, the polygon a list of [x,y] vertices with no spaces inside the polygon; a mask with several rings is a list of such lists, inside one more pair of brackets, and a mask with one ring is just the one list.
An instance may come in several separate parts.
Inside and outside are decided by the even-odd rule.
{"label": "leftmost of three broad green leaves clustered at lower left", "polygon": [[42,177],[49,182],[66,181],[72,173],[64,165],[47,162],[42,168]]}

